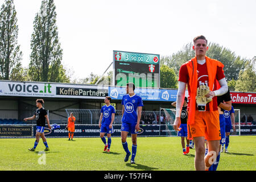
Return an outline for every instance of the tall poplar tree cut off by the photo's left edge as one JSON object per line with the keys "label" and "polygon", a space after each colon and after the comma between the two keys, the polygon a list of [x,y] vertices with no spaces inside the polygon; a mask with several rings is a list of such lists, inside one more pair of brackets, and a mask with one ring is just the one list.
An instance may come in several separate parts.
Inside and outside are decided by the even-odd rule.
{"label": "tall poplar tree cut off by the photo's left edge", "polygon": [[17,80],[16,71],[22,68],[17,21],[13,0],[6,0],[0,13],[0,79],[3,80]]}

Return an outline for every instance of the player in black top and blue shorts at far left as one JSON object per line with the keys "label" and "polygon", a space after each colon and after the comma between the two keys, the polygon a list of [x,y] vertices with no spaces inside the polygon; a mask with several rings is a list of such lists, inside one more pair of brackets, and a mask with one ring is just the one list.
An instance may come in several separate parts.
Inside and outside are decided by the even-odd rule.
{"label": "player in black top and blue shorts at far left", "polygon": [[24,121],[33,120],[36,118],[36,140],[33,148],[28,148],[30,151],[35,151],[36,146],[38,146],[40,137],[43,139],[43,143],[46,146],[44,151],[49,151],[49,146],[46,141],[46,137],[44,136],[44,127],[46,126],[46,121],[48,124],[48,128],[51,129],[51,125],[49,124],[49,118],[46,112],[46,109],[43,107],[44,101],[42,99],[36,100],[36,109],[35,114],[30,118],[24,118]]}

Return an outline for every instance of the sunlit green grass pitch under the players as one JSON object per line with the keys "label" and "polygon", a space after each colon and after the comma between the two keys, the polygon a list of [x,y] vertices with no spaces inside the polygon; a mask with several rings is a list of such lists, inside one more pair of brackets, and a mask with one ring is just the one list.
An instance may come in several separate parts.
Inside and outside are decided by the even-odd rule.
{"label": "sunlit green grass pitch under the players", "polygon": [[[121,138],[112,137],[110,152],[103,152],[99,138],[48,138],[50,151],[40,139],[35,152],[35,138],[0,139],[0,171],[4,170],[101,170],[101,171],[187,171],[195,170],[195,150],[183,155],[179,137],[140,137],[136,164],[123,162],[125,151]],[[127,138],[131,151],[131,138]],[[256,136],[230,137],[229,153],[221,153],[218,170],[256,170]]]}

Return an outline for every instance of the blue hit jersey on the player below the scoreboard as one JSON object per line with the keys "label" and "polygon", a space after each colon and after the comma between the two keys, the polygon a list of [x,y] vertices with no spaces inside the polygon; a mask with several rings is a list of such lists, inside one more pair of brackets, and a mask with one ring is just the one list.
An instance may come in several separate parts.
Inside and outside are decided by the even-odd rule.
{"label": "blue hit jersey on the player below the scoreboard", "polygon": [[125,112],[123,113],[122,122],[126,123],[137,123],[138,111],[137,107],[143,106],[142,98],[137,94],[130,96],[126,94],[122,98],[122,105],[125,107]]}

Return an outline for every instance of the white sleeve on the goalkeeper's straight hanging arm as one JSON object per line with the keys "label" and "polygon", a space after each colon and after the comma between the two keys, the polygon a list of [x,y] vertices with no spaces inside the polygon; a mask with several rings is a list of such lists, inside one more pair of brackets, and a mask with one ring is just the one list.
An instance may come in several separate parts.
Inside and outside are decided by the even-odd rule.
{"label": "white sleeve on the goalkeeper's straight hanging arm", "polygon": [[180,113],[183,107],[184,98],[185,98],[185,89],[187,83],[179,81],[179,88],[177,91],[177,100],[176,100],[176,117],[180,117]]}

